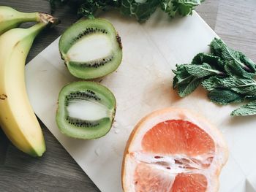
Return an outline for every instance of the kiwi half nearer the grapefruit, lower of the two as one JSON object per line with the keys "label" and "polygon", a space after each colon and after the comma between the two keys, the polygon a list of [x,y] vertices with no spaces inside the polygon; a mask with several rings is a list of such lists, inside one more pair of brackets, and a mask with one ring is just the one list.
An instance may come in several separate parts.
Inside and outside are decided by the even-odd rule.
{"label": "kiwi half nearer the grapefruit, lower of the two", "polygon": [[56,123],[61,133],[79,139],[96,139],[110,131],[116,99],[97,82],[72,82],[61,89]]}

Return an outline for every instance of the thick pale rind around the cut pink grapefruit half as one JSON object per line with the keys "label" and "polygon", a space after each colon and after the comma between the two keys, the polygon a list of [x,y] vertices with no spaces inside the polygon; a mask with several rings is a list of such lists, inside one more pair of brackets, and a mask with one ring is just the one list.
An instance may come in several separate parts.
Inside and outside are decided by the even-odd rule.
{"label": "thick pale rind around the cut pink grapefruit half", "polygon": [[[212,159],[208,169],[206,169],[206,171],[203,172],[199,171],[199,173],[203,173],[207,179],[206,191],[218,191],[219,173],[222,169],[222,166],[225,165],[228,158],[227,145],[222,137],[222,134],[219,132],[217,128],[212,126],[211,123],[208,123],[207,120],[200,117],[200,115],[197,115],[189,110],[176,108],[167,108],[165,110],[158,110],[156,112],[152,112],[150,115],[147,115],[145,118],[140,120],[138,125],[135,126],[134,130],[132,131],[132,134],[130,135],[127,141],[127,146],[124,151],[122,165],[122,186],[124,191],[136,191],[134,184],[134,173],[136,166],[141,161],[141,159],[138,159],[138,156],[136,157],[136,153],[143,153],[143,137],[145,136],[148,130],[156,126],[158,123],[164,122],[166,120],[185,120],[191,122],[199,128],[202,128],[203,131],[206,131],[206,133],[214,140],[214,158]],[[148,155],[151,156],[157,154]],[[159,166],[159,172],[161,171],[162,170]]]}

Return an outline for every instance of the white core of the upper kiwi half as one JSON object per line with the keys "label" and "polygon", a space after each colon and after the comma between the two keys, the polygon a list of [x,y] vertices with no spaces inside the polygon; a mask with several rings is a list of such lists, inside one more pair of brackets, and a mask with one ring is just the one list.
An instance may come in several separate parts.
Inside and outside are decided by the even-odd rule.
{"label": "white core of the upper kiwi half", "polygon": [[69,61],[86,63],[107,58],[113,53],[111,39],[106,34],[90,34],[75,42],[67,52]]}

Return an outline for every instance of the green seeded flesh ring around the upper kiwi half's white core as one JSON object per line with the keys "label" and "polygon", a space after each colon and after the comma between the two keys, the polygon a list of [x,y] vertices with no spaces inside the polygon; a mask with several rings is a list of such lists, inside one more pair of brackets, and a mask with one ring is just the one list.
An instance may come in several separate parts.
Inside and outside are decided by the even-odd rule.
{"label": "green seeded flesh ring around the upper kiwi half's white core", "polygon": [[[104,27],[105,29],[102,29]],[[74,28],[74,30],[72,30],[72,28]],[[103,61],[99,60],[100,62],[95,61],[95,63],[94,61],[89,61],[89,63],[71,61],[72,59],[69,58],[67,52],[72,45],[75,45],[83,36],[97,33],[105,34],[111,39],[113,55],[110,58],[106,58],[108,61],[105,61],[103,58]],[[69,37],[67,34],[72,35]],[[105,75],[116,71],[122,60],[121,37],[119,37],[114,26],[108,20],[102,18],[79,20],[77,23],[67,28],[59,41],[59,51],[61,59],[64,60],[64,64],[67,66],[69,72],[73,76],[83,80],[94,80],[99,77],[105,77]]]}

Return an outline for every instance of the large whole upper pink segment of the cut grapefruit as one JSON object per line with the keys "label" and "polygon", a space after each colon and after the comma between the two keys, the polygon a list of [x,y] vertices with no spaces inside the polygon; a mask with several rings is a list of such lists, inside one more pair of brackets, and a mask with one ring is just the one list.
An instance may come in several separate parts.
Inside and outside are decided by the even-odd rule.
{"label": "large whole upper pink segment of the cut grapefruit", "polygon": [[186,120],[166,120],[146,132],[143,151],[163,154],[200,155],[214,153],[213,139],[195,124]]}

